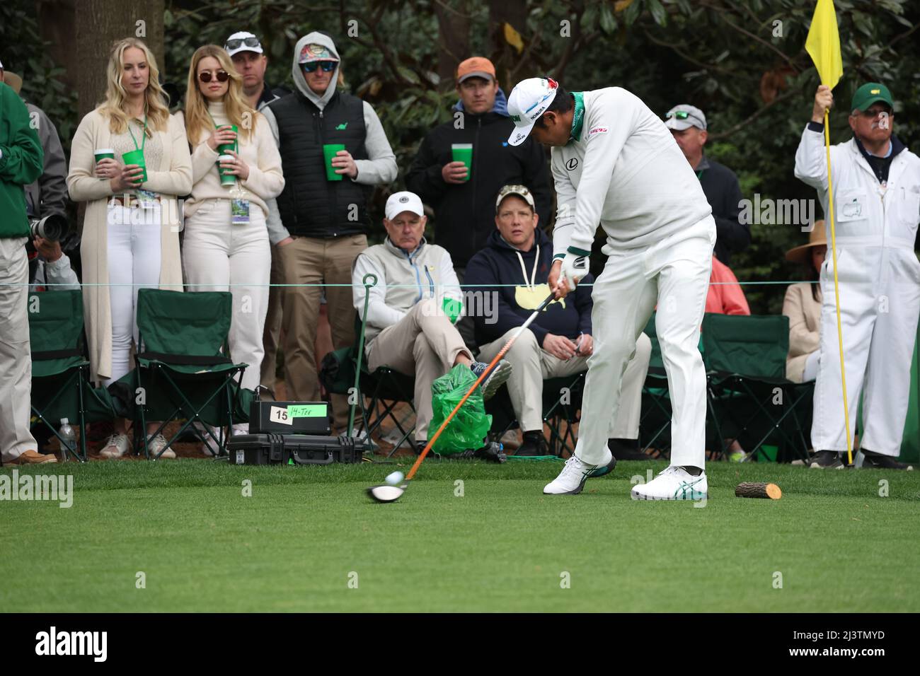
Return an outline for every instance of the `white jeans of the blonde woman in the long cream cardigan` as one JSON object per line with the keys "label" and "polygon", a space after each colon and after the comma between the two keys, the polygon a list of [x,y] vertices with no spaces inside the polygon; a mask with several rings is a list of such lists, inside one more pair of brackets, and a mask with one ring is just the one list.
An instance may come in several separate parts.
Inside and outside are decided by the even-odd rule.
{"label": "white jeans of the blonde woman in the long cream cardigan", "polygon": [[112,318],[112,376],[131,370],[137,342],[137,292],[160,285],[160,210],[109,207],[109,308]]}

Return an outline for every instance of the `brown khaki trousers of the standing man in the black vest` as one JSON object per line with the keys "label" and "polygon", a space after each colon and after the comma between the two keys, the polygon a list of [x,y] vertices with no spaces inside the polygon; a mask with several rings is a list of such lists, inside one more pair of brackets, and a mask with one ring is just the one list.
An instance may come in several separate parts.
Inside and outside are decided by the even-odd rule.
{"label": "brown khaki trousers of the standing man in the black vest", "polygon": [[[325,287],[334,349],[354,344],[354,306],[351,304],[351,267],[367,248],[364,235],[321,239],[294,237],[278,247],[285,284],[282,293],[284,329],[284,382],[293,401],[319,401],[316,373],[316,326],[319,323],[319,284]],[[335,425],[348,424],[348,396],[332,395]]]}

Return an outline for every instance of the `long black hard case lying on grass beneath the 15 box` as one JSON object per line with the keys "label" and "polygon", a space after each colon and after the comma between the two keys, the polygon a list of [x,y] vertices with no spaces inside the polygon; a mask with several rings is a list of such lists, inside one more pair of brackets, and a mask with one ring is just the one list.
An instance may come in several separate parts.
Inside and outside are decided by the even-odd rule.
{"label": "long black hard case lying on grass beneath the 15 box", "polygon": [[230,464],[360,463],[369,446],[352,437],[238,434],[227,441]]}

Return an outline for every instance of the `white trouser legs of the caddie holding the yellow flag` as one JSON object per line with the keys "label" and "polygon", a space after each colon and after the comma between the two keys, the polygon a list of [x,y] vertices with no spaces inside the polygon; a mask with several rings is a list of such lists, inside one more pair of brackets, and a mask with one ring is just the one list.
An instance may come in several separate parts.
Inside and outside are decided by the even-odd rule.
{"label": "white trouser legs of the caddie holding the yellow flag", "polygon": [[[920,262],[914,242],[865,246],[838,236],[837,270],[850,440],[861,393],[860,448],[897,457],[907,419],[920,315]],[[814,385],[811,445],[815,451],[842,452],[846,450],[844,390],[830,251],[821,268],[821,292],[821,358]]]}

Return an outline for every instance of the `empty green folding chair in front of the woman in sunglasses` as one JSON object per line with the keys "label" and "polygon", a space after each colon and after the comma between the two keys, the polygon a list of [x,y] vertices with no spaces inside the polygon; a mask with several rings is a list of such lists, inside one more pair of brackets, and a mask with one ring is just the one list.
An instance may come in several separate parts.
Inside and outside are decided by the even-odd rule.
{"label": "empty green folding chair in front of the woman in sunglasses", "polygon": [[[232,312],[229,292],[139,290],[137,368],[126,379],[138,393],[134,429],[142,433],[134,435],[134,442],[136,447],[139,438],[144,440],[145,457],[150,458],[147,420],[162,421],[153,436],[172,420],[184,420],[167,447],[194,423],[204,423],[204,434],[225,452],[224,427],[242,422],[245,408],[240,382],[247,364],[226,357]],[[208,426],[218,428],[218,435]]]}

